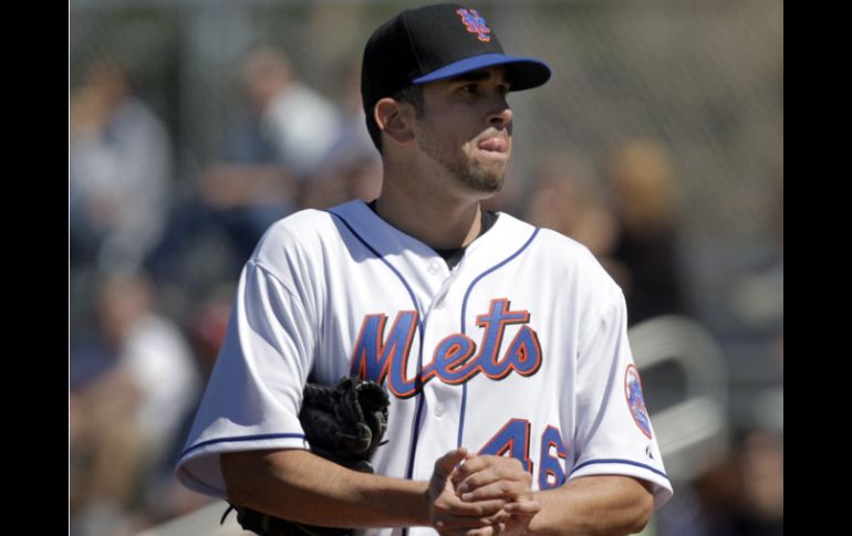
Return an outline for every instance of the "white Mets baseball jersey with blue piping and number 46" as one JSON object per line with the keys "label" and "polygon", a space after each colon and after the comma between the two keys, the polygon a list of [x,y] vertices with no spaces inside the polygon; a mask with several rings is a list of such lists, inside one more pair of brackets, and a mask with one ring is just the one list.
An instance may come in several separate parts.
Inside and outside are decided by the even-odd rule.
{"label": "white Mets baseball jersey with blue piping and number 46", "polygon": [[463,445],[517,458],[533,488],[632,475],[661,506],[672,486],[626,326],[621,290],[584,246],[509,214],[449,269],[362,201],[305,210],[245,266],[177,474],[225,497],[220,453],[309,448],[309,374],[357,374],[392,393],[377,473],[425,481]]}

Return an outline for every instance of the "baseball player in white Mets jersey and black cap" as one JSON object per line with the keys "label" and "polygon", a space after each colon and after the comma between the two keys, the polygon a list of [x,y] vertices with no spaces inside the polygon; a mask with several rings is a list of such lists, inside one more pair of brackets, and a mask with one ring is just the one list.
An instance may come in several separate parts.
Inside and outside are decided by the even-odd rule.
{"label": "baseball player in white Mets jersey and black cap", "polygon": [[[480,209],[511,153],[507,93],[549,77],[463,6],[373,33],[362,96],[382,193],[261,239],[185,485],[370,535],[627,534],[671,498],[621,290],[579,243]],[[309,377],[347,375],[391,393],[376,474],[310,452],[300,427]]]}

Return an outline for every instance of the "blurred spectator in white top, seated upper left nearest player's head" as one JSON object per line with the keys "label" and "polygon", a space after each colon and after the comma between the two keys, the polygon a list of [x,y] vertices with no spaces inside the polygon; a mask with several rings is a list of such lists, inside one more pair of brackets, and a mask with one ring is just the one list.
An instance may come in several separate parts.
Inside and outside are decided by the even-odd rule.
{"label": "blurred spectator in white top, seated upper left nearest player's head", "polygon": [[276,48],[250,50],[240,76],[248,108],[235,114],[221,161],[202,178],[201,195],[220,208],[276,206],[292,212],[301,182],[332,156],[343,126],[340,114],[299,80]]}

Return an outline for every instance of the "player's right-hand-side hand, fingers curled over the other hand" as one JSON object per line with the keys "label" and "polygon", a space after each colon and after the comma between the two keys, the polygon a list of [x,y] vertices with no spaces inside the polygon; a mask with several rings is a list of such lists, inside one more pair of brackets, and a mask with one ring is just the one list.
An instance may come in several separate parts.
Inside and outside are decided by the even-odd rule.
{"label": "player's right-hand-side hand, fingers curled over the other hand", "polygon": [[468,532],[467,536],[523,534],[541,504],[532,492],[532,476],[513,458],[477,455],[466,456],[450,481],[458,496],[465,502],[505,501],[502,513],[507,517],[497,523]]}

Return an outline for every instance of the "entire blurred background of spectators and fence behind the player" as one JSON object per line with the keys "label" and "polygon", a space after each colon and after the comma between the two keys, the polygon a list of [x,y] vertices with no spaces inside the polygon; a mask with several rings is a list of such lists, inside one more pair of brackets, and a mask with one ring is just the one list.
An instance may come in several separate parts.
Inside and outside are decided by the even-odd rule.
{"label": "entire blurred background of spectators and fence behind the player", "polygon": [[[406,4],[71,1],[72,536],[210,503],[172,470],[239,271],[276,220],[381,190],[360,55]],[[553,69],[510,95],[489,208],[582,242],[625,292],[676,490],[646,534],[782,534],[781,0],[472,7]]]}

